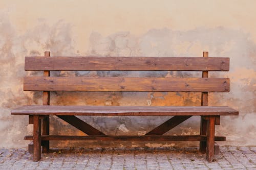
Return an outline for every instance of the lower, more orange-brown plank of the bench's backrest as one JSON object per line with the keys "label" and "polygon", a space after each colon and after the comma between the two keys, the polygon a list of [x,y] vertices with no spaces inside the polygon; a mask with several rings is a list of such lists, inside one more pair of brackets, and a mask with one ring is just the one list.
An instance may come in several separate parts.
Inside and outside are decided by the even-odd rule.
{"label": "lower, more orange-brown plank of the bench's backrest", "polygon": [[228,78],[25,77],[35,91],[186,91],[228,92]]}

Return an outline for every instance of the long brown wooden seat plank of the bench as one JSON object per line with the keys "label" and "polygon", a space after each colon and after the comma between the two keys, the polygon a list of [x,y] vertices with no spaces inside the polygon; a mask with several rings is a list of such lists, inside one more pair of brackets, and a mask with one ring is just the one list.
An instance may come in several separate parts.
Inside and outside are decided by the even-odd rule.
{"label": "long brown wooden seat plank of the bench", "polygon": [[175,116],[238,115],[227,106],[22,106],[13,115]]}

